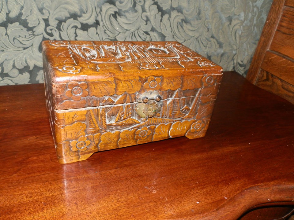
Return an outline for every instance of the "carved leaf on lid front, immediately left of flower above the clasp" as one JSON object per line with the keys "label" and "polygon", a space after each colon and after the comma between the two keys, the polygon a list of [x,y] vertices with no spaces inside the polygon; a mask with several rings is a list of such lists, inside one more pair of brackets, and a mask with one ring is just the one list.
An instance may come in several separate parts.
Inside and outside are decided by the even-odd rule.
{"label": "carved leaf on lid front, immediately left of flower above the clasp", "polygon": [[116,84],[116,92],[115,94],[121,95],[124,92],[127,92],[128,94],[133,94],[141,89],[141,82],[138,79],[114,79],[114,82]]}

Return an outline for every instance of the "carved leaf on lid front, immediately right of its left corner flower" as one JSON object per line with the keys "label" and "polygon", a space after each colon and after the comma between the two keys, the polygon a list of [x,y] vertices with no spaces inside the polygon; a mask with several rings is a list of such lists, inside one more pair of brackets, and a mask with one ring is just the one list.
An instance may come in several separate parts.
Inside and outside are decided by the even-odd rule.
{"label": "carved leaf on lid front, immediately right of its left corner flower", "polygon": [[115,94],[115,83],[113,81],[89,83],[89,96],[111,96]]}

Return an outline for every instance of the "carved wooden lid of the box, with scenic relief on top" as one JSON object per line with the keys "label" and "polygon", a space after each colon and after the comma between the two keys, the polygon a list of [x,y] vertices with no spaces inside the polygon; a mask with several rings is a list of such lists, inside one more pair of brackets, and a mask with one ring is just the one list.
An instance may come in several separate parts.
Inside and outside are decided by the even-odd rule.
{"label": "carved wooden lid of the box, with scenic relief on top", "polygon": [[192,90],[202,86],[203,76],[222,74],[178,42],[43,41],[42,52],[47,93],[57,110],[99,106],[105,96],[124,93]]}

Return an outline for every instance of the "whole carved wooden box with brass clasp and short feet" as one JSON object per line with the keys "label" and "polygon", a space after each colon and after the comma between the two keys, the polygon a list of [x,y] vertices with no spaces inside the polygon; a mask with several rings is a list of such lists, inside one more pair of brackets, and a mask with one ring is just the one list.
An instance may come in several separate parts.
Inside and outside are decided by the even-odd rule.
{"label": "whole carved wooden box with brass clasp and short feet", "polygon": [[222,68],[178,42],[44,41],[47,108],[60,163],[205,135]]}

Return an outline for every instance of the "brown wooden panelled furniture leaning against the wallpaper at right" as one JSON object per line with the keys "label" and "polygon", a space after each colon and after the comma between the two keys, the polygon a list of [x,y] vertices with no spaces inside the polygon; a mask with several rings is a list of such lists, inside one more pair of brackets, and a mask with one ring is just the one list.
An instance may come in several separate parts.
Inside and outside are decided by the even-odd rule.
{"label": "brown wooden panelled furniture leaning against the wallpaper at right", "polygon": [[273,0],[246,78],[294,104],[294,0]]}

